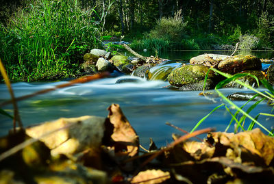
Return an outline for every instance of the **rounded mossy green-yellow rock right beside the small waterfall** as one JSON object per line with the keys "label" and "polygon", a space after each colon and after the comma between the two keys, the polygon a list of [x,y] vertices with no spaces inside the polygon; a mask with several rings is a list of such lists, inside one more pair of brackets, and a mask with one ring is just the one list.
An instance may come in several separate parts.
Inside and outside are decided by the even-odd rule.
{"label": "rounded mossy green-yellow rock right beside the small waterfall", "polygon": [[[173,70],[167,79],[173,86],[181,87],[190,83],[197,83],[204,80],[206,73],[208,73],[209,67],[203,65],[185,65],[180,68]],[[215,81],[216,75],[210,70],[208,79]]]}

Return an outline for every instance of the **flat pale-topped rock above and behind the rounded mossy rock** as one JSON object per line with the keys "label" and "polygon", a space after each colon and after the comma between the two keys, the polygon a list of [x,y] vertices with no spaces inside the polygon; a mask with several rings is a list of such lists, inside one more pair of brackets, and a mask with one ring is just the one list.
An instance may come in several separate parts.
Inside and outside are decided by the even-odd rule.
{"label": "flat pale-topped rock above and behind the rounded mossy rock", "polygon": [[219,54],[203,54],[190,59],[190,64],[201,64],[208,67],[217,68],[219,62],[225,60],[229,55],[219,55]]}

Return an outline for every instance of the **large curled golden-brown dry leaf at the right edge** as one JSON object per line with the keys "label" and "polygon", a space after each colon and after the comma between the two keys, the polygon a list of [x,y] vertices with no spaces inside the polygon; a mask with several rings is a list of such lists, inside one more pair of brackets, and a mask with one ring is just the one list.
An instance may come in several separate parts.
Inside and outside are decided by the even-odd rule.
{"label": "large curled golden-brown dry leaf at the right edge", "polygon": [[[216,148],[214,155],[222,155],[220,148],[226,146],[225,154],[229,155],[230,159],[242,161],[253,161],[261,164],[264,162],[266,166],[273,163],[274,159],[274,137],[264,135],[260,129],[245,131],[241,133],[209,133],[208,140],[214,140],[214,144],[221,144]],[[228,149],[228,148],[232,148]],[[225,156],[225,155],[223,155]],[[233,158],[234,157],[234,158]],[[263,159],[263,161],[262,161]]]}

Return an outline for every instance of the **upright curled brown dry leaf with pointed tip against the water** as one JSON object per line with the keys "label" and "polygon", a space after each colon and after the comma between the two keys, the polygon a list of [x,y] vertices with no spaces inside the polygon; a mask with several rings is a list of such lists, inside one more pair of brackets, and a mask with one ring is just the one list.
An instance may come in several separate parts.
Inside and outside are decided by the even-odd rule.
{"label": "upright curled brown dry leaf with pointed tip against the water", "polygon": [[115,142],[115,152],[121,155],[128,155],[129,157],[138,155],[139,137],[127,118],[125,118],[120,106],[112,104],[108,107],[108,110],[110,111],[108,118],[114,126],[111,137]]}

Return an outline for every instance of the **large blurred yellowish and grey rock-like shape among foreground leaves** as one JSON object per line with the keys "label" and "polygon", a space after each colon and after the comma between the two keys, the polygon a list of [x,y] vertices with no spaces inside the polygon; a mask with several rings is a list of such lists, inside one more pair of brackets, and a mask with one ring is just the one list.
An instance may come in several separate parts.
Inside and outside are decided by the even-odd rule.
{"label": "large blurred yellowish and grey rock-like shape among foreground leaves", "polygon": [[[51,155],[73,155],[86,148],[99,148],[105,131],[105,118],[82,116],[60,118],[26,129],[27,135],[44,142],[51,149]],[[69,127],[68,127],[69,126]],[[45,133],[56,131],[45,137]]]}

